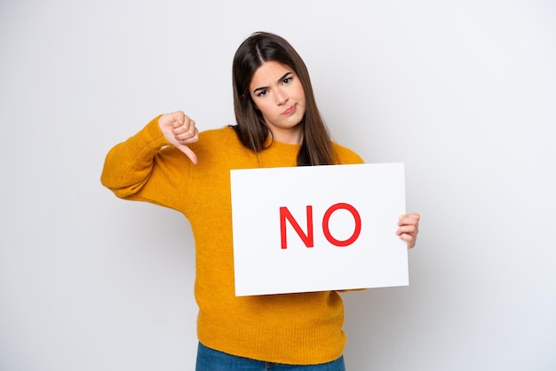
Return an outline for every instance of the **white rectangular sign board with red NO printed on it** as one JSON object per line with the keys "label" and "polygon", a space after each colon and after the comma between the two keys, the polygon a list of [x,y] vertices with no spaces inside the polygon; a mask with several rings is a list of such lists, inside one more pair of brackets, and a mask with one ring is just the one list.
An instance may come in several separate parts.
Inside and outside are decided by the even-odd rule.
{"label": "white rectangular sign board with red NO printed on it", "polygon": [[409,285],[403,163],[230,176],[236,296]]}

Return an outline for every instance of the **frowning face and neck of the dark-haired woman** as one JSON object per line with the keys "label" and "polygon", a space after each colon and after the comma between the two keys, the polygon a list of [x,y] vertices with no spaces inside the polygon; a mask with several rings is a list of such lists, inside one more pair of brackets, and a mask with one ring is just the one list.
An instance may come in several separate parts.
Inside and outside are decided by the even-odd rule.
{"label": "frowning face and neck of the dark-haired woman", "polygon": [[290,67],[268,61],[258,67],[249,85],[250,95],[266,126],[279,142],[300,144],[306,102],[298,75]]}

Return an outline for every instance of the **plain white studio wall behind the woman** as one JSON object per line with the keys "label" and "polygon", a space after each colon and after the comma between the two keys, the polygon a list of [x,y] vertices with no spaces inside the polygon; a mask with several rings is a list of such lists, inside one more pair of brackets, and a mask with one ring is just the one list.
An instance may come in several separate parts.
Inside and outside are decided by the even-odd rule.
{"label": "plain white studio wall behind the woman", "polygon": [[233,53],[267,30],[338,142],[405,162],[423,218],[410,286],[345,296],[348,369],[553,370],[554,20],[549,0],[3,0],[0,369],[193,369],[187,221],[100,170],[156,114],[233,123]]}

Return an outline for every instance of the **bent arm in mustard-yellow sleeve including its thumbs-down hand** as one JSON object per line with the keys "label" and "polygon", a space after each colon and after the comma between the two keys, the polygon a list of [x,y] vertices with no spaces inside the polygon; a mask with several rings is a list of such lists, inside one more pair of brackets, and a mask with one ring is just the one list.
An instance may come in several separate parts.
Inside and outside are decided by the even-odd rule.
{"label": "bent arm in mustard-yellow sleeve including its thumbs-down hand", "polygon": [[156,117],[108,152],[100,181],[120,198],[176,209],[176,192],[184,192],[187,167],[197,161],[187,145],[198,138],[195,122],[182,112]]}

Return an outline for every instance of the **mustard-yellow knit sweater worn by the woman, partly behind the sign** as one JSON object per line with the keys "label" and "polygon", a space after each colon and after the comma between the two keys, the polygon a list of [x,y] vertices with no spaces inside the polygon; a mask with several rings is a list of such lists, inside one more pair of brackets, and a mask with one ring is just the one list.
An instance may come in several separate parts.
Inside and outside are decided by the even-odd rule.
{"label": "mustard-yellow knit sweater worn by the woman, partly behind the sign", "polygon": [[[299,146],[274,142],[256,154],[226,127],[203,131],[191,148],[197,165],[166,141],[155,118],[110,150],[101,182],[118,197],[176,209],[191,223],[199,341],[269,362],[308,365],[338,359],[346,335],[337,292],[234,296],[230,170],[296,166]],[[339,163],[362,162],[346,147],[334,144],[334,149]]]}

